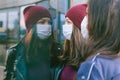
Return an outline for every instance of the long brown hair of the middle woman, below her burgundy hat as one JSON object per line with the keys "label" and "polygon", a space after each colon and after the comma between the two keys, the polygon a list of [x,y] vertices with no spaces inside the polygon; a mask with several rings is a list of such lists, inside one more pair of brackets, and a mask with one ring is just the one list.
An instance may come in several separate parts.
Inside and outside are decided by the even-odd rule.
{"label": "long brown hair of the middle woman, below her burgundy hat", "polygon": [[82,61],[81,52],[81,31],[78,27],[74,25],[73,32],[71,35],[71,40],[64,41],[64,49],[61,59],[63,59],[67,64],[75,67],[79,67],[80,61]]}

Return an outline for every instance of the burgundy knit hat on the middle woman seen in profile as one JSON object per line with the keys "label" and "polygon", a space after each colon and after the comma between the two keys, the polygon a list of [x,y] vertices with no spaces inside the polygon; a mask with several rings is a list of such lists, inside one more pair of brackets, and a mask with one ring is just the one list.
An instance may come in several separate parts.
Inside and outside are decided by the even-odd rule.
{"label": "burgundy knit hat on the middle woman seen in profile", "polygon": [[87,4],[75,5],[67,11],[65,17],[68,17],[76,27],[81,28],[81,22],[86,15],[86,8]]}

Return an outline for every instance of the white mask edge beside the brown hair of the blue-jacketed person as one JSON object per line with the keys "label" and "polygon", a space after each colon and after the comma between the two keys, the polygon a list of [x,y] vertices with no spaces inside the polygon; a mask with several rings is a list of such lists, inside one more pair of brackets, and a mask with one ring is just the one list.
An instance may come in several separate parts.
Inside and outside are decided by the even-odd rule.
{"label": "white mask edge beside the brown hair of the blue-jacketed person", "polygon": [[88,39],[88,29],[87,29],[87,24],[88,24],[88,17],[85,16],[83,21],[81,22],[81,34],[84,39]]}

